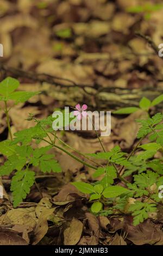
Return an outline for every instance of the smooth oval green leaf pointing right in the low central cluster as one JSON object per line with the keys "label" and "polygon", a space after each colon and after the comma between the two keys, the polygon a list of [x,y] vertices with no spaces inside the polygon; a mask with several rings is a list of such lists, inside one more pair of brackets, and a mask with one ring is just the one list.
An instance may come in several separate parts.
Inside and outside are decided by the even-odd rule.
{"label": "smooth oval green leaf pointing right in the low central cluster", "polygon": [[120,194],[123,194],[126,192],[129,192],[127,188],[115,185],[115,186],[106,187],[103,192],[103,196],[105,198],[112,198],[112,197],[120,196]]}

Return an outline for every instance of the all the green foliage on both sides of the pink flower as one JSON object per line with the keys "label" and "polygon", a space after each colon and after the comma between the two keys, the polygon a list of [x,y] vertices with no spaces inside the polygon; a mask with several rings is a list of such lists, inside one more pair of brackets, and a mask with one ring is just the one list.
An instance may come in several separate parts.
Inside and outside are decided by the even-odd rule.
{"label": "all the green foliage on both sides of the pink flower", "polygon": [[[58,36],[62,37],[61,34]],[[27,101],[29,97],[37,94],[15,92],[18,86],[18,81],[11,77],[7,77],[0,83],[0,100],[5,101],[4,112],[7,115],[9,131],[9,109],[7,108],[7,101],[12,100],[14,104],[17,104]],[[162,100],[162,95],[152,102],[146,97],[143,97],[139,102],[139,108],[123,108],[115,113],[129,114],[134,113],[138,109],[148,112],[151,107],[159,104]],[[102,160],[102,166],[104,167],[95,161],[93,162],[97,167],[90,166],[90,164],[74,156],[65,148],[56,145],[55,139],[57,137],[54,132],[55,129],[53,130],[55,127],[52,127],[55,119],[49,116],[45,119],[37,120],[33,114],[29,114],[27,120],[34,120],[34,127],[16,132],[14,139],[12,139],[11,135],[11,141],[6,140],[0,142],[0,153],[7,156],[7,160],[0,167],[0,176],[10,175],[12,178],[11,191],[14,207],[18,206],[30,192],[30,188],[35,182],[35,167],[43,173],[61,172],[60,165],[54,159],[54,155],[49,153],[49,150],[56,147],[77,161],[95,169],[93,178],[96,182],[94,184],[80,181],[72,182],[80,192],[89,194],[90,210],[94,214],[107,216],[115,212],[120,214],[126,212],[129,198],[133,198],[133,200],[136,198],[136,201],[133,201],[134,203],[128,207],[128,213],[134,216],[134,225],[146,220],[149,212],[157,210],[157,203],[159,202],[160,204],[162,202],[162,199],[159,198],[159,186],[163,184],[163,157],[155,159],[154,155],[158,151],[162,152],[163,150],[163,115],[161,113],[157,113],[153,117],[148,117],[145,120],[137,120],[140,123],[137,138],[140,141],[136,143],[135,148],[130,154],[122,152],[119,146],[112,148],[108,152],[87,154],[87,159],[93,157],[97,160]],[[70,124],[71,120],[70,115],[64,120],[63,130]],[[149,138],[151,142],[141,145],[142,139],[145,137],[146,139]],[[47,147],[31,147],[31,144],[33,145],[34,142],[38,144],[42,140],[47,142]],[[62,144],[64,145],[64,142]],[[121,176],[122,170],[124,170],[123,177]],[[131,183],[124,179],[128,175],[132,175],[133,177]],[[123,182],[123,185],[119,183],[119,180]]]}

